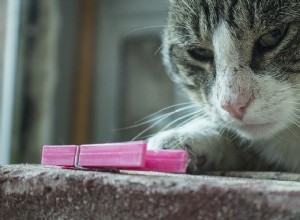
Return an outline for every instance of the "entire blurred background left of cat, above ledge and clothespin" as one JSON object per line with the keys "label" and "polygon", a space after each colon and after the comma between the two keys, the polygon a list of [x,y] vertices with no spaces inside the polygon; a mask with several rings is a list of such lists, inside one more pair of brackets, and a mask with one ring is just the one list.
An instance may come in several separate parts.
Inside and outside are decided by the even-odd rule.
{"label": "entire blurred background left of cat, above ledge and clothespin", "polygon": [[185,99],[161,61],[168,4],[0,0],[0,164],[40,163],[43,145],[146,138],[170,123],[136,126]]}

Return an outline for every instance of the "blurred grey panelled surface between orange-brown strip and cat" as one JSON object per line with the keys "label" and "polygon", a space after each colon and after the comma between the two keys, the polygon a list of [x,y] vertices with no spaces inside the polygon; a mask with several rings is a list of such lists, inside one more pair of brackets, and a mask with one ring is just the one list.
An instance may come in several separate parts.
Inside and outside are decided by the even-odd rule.
{"label": "blurred grey panelled surface between orange-brown strip and cat", "polygon": [[120,128],[177,101],[160,53],[156,54],[168,4],[167,0],[101,1],[93,142],[130,140],[146,127]]}

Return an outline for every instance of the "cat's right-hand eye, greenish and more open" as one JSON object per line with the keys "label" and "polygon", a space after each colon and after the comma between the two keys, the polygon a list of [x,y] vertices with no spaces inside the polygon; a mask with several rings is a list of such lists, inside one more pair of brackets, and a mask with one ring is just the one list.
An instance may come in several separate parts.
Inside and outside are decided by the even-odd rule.
{"label": "cat's right-hand eye, greenish and more open", "polygon": [[259,46],[261,48],[272,48],[277,46],[283,39],[286,33],[286,28],[280,28],[273,30],[267,34],[261,36],[258,40]]}

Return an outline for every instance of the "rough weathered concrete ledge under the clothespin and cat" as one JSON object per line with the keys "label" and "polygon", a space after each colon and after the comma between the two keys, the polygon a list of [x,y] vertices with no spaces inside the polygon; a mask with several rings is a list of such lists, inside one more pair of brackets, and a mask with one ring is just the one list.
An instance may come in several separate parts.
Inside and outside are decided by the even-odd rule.
{"label": "rough weathered concrete ledge under the clothespin and cat", "polygon": [[[296,178],[297,179],[297,178]],[[300,182],[0,166],[0,219],[300,219]]]}

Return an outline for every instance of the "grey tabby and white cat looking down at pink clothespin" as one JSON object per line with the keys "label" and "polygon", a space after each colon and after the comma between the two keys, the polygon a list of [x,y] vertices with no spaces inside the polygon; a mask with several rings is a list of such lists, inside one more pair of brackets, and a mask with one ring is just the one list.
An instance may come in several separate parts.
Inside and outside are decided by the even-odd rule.
{"label": "grey tabby and white cat looking down at pink clothespin", "polygon": [[170,0],[162,54],[198,110],[149,148],[187,150],[189,173],[300,172],[299,0]]}

